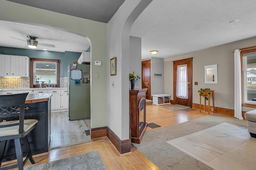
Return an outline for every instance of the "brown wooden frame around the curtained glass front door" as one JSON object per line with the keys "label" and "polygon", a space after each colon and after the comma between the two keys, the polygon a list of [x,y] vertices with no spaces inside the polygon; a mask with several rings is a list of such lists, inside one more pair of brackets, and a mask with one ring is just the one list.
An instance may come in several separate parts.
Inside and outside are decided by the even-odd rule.
{"label": "brown wooden frame around the curtained glass front door", "polygon": [[176,104],[176,80],[177,80],[177,66],[182,63],[188,63],[189,62],[189,70],[188,70],[188,106],[192,107],[192,58],[188,59],[182,59],[173,61],[173,104]]}

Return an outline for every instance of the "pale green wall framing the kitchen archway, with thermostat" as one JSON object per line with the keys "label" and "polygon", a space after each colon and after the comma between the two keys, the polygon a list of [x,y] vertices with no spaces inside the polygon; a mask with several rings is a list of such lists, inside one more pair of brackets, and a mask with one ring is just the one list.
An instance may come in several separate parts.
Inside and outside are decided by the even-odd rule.
{"label": "pale green wall framing the kitchen archway, with thermostat", "polygon": [[[102,66],[91,64],[91,127],[107,125],[107,24],[42,10],[14,2],[0,0],[0,20],[15,21],[43,27],[54,27],[88,37],[91,63],[102,61]],[[33,15],[31,15],[33,14]],[[60,61],[62,62],[62,61]],[[96,72],[100,78],[96,78]]]}

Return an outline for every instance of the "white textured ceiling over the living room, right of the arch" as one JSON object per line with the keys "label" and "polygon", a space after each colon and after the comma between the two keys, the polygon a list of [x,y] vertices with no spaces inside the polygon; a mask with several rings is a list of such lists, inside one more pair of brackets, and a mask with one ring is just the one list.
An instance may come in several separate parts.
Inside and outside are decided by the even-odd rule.
{"label": "white textured ceiling over the living room, right of the arch", "polygon": [[255,0],[153,0],[130,35],[142,37],[142,58],[170,57],[255,37],[255,9]]}

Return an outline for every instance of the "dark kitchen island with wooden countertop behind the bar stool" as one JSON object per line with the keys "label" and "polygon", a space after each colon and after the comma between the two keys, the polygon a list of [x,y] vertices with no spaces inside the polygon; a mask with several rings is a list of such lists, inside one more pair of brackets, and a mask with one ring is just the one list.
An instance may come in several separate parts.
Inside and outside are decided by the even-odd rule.
{"label": "dark kitchen island with wooden countertop behind the bar stool", "polygon": [[[32,155],[48,152],[50,148],[51,97],[52,94],[39,93],[28,94],[26,98],[25,119],[38,120],[36,127],[27,135]],[[6,121],[11,120],[18,120],[18,117],[11,117]],[[3,162],[13,159],[16,159],[16,154],[14,141],[11,140],[7,142]]]}

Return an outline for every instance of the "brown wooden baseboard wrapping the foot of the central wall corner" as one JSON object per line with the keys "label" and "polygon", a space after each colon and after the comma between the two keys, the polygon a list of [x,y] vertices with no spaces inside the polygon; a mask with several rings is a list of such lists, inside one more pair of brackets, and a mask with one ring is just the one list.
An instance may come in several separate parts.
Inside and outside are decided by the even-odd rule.
{"label": "brown wooden baseboard wrapping the foot of the central wall corner", "polygon": [[120,154],[124,154],[131,151],[131,140],[126,139],[121,141],[119,137],[107,126],[105,127],[90,127],[90,137],[91,139],[96,139],[99,137],[107,136],[108,139],[113,143]]}

